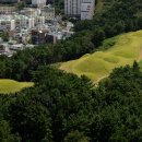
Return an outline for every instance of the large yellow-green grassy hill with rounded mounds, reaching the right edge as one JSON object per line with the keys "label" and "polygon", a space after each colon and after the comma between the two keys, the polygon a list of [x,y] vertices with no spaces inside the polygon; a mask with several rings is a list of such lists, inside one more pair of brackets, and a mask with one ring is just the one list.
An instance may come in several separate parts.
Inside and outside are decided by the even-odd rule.
{"label": "large yellow-green grassy hill with rounded mounds, reaching the right edge", "polygon": [[[110,48],[111,46],[111,48]],[[142,59],[142,31],[106,39],[102,48],[108,48],[78,60],[61,63],[59,69],[78,75],[86,75],[94,83],[109,75],[114,68],[132,64]]]}

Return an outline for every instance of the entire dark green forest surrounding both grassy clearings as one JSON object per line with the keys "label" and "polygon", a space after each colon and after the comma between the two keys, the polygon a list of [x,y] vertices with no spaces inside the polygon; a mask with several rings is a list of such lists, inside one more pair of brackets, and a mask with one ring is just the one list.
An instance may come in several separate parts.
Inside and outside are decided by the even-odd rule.
{"label": "entire dark green forest surrounding both grassy clearings", "polygon": [[[99,1],[98,1],[99,2]],[[97,86],[85,76],[50,63],[99,50],[105,38],[142,28],[141,0],[104,0],[92,21],[75,23],[76,34],[0,56],[0,78],[35,86],[0,95],[0,142],[141,142],[142,73],[118,68]]]}

